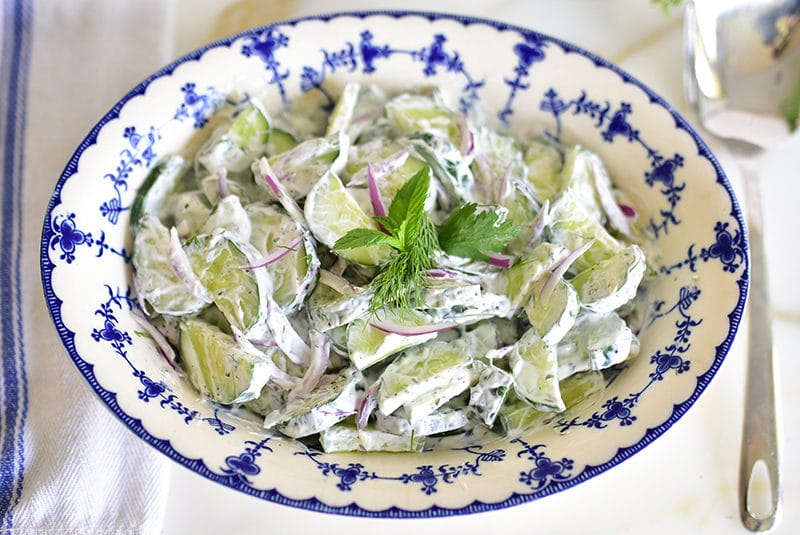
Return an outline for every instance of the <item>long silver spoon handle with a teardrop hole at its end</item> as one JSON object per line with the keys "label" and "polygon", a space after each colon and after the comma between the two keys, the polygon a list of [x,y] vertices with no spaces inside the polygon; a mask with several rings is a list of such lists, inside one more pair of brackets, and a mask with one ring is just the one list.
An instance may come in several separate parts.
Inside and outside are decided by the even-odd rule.
{"label": "long silver spoon handle with a teardrop hole at its end", "polygon": [[[777,363],[772,352],[772,322],[757,160],[743,160],[742,172],[749,213],[750,288],[747,303],[749,332],[739,467],[739,513],[747,529],[768,531],[777,524],[782,512],[781,419],[779,405],[776,403]],[[759,462],[765,464],[769,477],[771,503],[768,511],[754,510],[753,496],[750,493],[754,468]]]}

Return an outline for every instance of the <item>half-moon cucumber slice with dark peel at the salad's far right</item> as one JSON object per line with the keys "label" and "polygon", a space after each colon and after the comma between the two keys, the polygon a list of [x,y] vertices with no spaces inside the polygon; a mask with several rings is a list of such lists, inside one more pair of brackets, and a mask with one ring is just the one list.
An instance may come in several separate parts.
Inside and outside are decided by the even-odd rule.
{"label": "half-moon cucumber slice with dark peel at the salad's far right", "polygon": [[571,282],[585,308],[611,312],[636,296],[646,265],[644,253],[632,244],[579,273]]}

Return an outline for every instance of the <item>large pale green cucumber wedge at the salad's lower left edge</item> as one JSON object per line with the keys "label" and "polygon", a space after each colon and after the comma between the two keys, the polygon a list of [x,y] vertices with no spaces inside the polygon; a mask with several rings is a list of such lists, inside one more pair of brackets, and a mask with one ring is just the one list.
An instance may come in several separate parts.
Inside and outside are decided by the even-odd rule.
{"label": "large pale green cucumber wedge at the salad's lower left edge", "polygon": [[245,351],[218,327],[185,318],[180,323],[181,365],[203,396],[224,404],[255,399],[269,380],[264,355]]}

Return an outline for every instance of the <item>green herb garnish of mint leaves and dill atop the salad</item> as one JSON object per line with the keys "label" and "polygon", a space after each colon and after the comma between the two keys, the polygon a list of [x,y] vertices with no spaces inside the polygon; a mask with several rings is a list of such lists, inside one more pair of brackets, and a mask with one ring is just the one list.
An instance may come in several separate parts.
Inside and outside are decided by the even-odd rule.
{"label": "green herb garnish of mint leaves and dill atop the salad", "polygon": [[488,260],[487,252],[499,252],[517,237],[519,227],[502,220],[497,210],[479,210],[475,203],[456,208],[437,231],[425,210],[431,182],[431,168],[423,167],[409,179],[392,200],[386,216],[374,219],[383,230],[350,230],[333,245],[333,250],[389,245],[397,251],[372,280],[370,309],[390,308],[401,315],[420,302],[426,273],[433,267],[437,249],[474,260]]}

